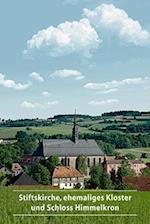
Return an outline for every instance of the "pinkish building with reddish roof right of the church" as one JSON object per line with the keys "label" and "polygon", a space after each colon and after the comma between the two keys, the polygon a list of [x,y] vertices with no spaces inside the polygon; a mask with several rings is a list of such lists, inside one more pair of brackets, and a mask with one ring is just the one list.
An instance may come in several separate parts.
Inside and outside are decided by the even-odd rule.
{"label": "pinkish building with reddish roof right of the church", "polygon": [[[108,174],[110,174],[112,170],[115,170],[115,172],[117,172],[118,169],[121,167],[123,161],[125,161],[125,159],[114,159],[114,160],[105,159],[103,163],[104,170]],[[136,175],[139,175],[141,173],[141,170],[143,170],[146,167],[146,164],[141,160],[127,160],[127,161],[131,169],[133,169],[134,172],[136,173]]]}

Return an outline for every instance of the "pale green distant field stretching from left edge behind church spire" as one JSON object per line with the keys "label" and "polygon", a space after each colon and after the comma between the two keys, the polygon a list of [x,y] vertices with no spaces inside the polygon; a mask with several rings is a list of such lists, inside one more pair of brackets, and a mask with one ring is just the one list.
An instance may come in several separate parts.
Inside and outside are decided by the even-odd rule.
{"label": "pale green distant field stretching from left edge behind church spire", "polygon": [[[50,127],[30,127],[31,130],[27,131],[26,127],[8,127],[0,128],[0,139],[15,138],[17,131],[27,131],[28,134],[40,133],[48,136],[55,134],[71,135],[72,124],[59,124]],[[80,133],[91,133],[92,131],[87,128],[81,127]]]}

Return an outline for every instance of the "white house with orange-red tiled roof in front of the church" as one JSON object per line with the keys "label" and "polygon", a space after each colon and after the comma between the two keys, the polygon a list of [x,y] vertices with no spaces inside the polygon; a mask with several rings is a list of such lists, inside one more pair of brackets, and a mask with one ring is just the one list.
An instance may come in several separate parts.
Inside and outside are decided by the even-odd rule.
{"label": "white house with orange-red tiled roof in front of the church", "polygon": [[76,184],[84,187],[84,176],[73,167],[57,166],[52,175],[52,186],[60,189],[73,189]]}

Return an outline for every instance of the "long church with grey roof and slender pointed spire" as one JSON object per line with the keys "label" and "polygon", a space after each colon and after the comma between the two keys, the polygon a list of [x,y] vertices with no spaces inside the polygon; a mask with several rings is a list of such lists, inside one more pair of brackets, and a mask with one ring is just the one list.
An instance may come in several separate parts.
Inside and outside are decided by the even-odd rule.
{"label": "long church with grey roof and slender pointed spire", "polygon": [[103,162],[104,153],[94,139],[79,139],[76,115],[71,139],[44,139],[33,153],[33,161],[48,159],[57,155],[64,166],[76,168],[78,156],[85,156],[87,166],[91,167]]}

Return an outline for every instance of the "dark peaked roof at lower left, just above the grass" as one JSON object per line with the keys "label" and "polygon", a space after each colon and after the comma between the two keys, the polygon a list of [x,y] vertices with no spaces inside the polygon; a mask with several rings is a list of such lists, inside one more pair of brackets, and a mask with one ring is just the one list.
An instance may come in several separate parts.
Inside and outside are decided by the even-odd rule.
{"label": "dark peaked roof at lower left, just above the grass", "polygon": [[38,185],[38,183],[26,173],[20,173],[19,175],[14,176],[11,179],[9,185],[26,186],[26,185]]}

